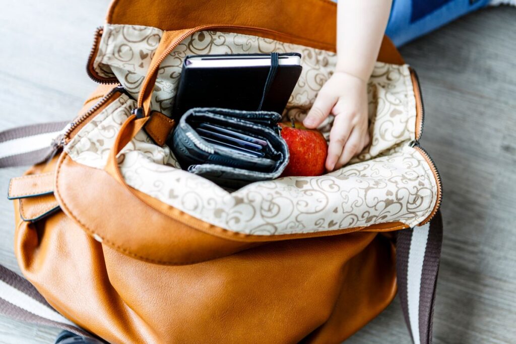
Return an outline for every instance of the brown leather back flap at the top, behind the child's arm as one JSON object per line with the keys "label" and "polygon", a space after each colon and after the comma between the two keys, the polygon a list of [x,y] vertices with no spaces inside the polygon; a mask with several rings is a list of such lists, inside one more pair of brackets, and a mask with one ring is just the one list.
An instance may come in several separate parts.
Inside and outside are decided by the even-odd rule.
{"label": "brown leather back flap at the top, behind the child's arm", "polygon": [[[278,14],[281,20],[278,20]],[[256,35],[328,51],[336,50],[337,6],[329,0],[252,0],[245,3],[241,0],[114,0],[106,20],[109,24],[152,26],[165,31],[211,24],[232,26],[228,27],[227,32]],[[378,61],[404,63],[386,36]]]}

